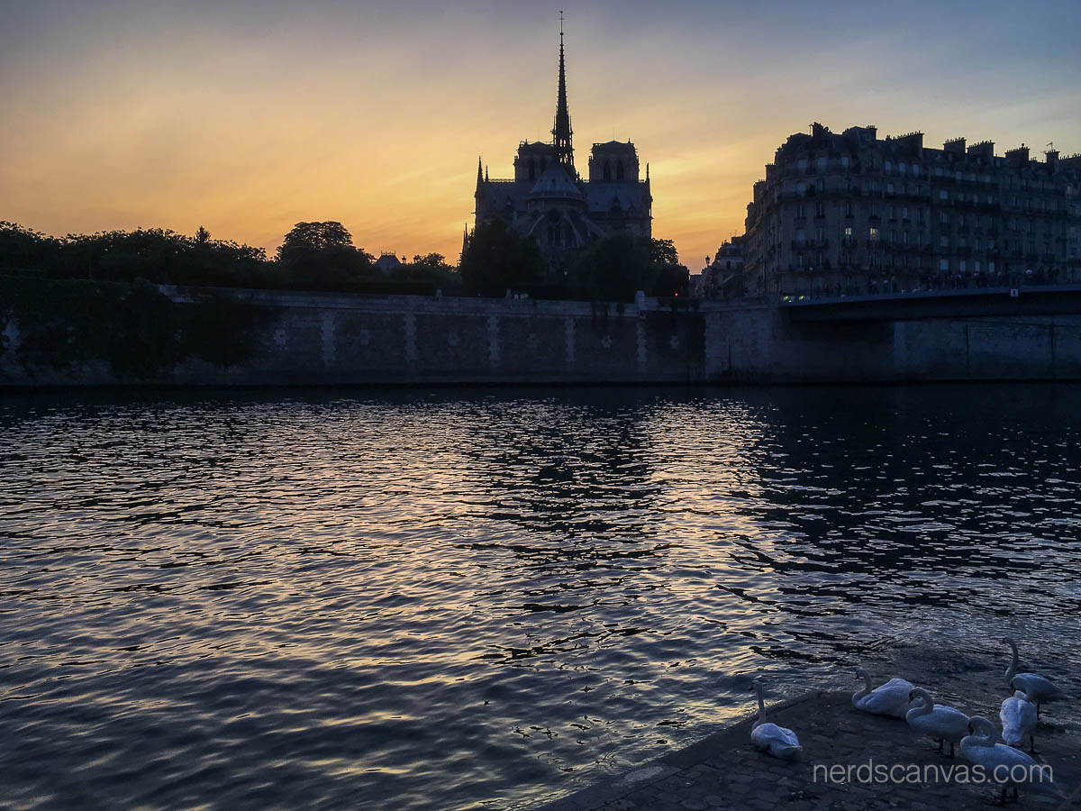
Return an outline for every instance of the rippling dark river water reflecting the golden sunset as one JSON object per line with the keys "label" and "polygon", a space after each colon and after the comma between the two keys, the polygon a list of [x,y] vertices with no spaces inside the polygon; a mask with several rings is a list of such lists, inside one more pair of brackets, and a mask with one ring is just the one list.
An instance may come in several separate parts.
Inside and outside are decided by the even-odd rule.
{"label": "rippling dark river water reflecting the golden sunset", "polygon": [[8,397],[4,801],[529,806],[758,672],[1077,661],[1079,435],[1068,386]]}

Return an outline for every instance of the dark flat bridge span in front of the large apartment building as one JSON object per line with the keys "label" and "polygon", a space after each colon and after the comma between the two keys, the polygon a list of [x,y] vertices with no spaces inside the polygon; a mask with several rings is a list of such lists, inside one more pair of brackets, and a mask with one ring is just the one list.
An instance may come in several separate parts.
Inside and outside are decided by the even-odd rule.
{"label": "dark flat bridge span in front of the large apartment building", "polygon": [[784,296],[792,321],[910,321],[930,318],[1081,315],[1081,284],[1030,284],[862,296]]}

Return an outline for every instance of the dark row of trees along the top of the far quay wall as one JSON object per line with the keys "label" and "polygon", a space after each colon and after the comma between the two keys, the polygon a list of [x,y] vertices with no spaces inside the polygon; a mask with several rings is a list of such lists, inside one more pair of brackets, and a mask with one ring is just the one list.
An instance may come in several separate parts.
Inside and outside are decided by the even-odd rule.
{"label": "dark row of trees along the top of the far quay wall", "polygon": [[[404,258],[404,257],[403,257]],[[421,293],[629,302],[635,292],[685,295],[688,269],[670,240],[617,234],[569,258],[545,261],[536,242],[502,221],[478,226],[461,263],[416,255],[388,270],[341,223],[297,223],[273,256],[262,248],[162,228],[51,237],[0,222],[0,274],[198,287]]]}

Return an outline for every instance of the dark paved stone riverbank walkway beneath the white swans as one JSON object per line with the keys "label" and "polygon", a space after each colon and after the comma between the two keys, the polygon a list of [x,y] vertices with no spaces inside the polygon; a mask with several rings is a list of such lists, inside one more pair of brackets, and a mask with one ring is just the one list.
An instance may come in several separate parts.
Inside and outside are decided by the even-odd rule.
{"label": "dark paved stone riverbank walkway beneath the white swans", "polygon": [[[999,702],[991,683],[980,691],[986,701],[957,703],[962,709],[998,722]],[[949,695],[939,701],[953,703]],[[1038,760],[1054,769],[1056,785],[1065,796],[1040,796],[1022,792],[1019,802],[1007,808],[1081,809],[1081,739],[1072,721],[1072,707],[1065,723],[1056,720],[1056,705],[1044,708],[1044,723],[1037,731]],[[1065,707],[1064,707],[1065,709]],[[943,774],[935,767],[967,766],[939,755],[929,737],[921,737],[904,721],[859,713],[851,693],[822,692],[775,706],[770,720],[797,732],[803,758],[786,763],[756,752],[750,746],[752,718],[721,730],[685,749],[673,752],[632,771],[546,806],[546,811],[693,811],[694,809],[987,809],[999,799],[1000,790],[988,784],[961,784],[940,779],[902,783],[826,782],[823,769],[835,765],[866,763],[920,767]],[[948,747],[947,747],[948,753]],[[931,767],[925,770],[924,767]],[[957,774],[957,772],[953,772]]]}

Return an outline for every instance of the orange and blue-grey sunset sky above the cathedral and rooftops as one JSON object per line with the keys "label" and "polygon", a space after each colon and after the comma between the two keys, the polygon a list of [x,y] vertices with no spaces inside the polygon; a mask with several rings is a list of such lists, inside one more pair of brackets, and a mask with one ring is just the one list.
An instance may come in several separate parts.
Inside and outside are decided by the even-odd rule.
{"label": "orange and blue-grey sunset sky above the cathedral and rooftops", "polygon": [[1077,0],[561,2],[0,0],[0,220],[454,262],[478,155],[551,137],[560,8],[579,171],[633,141],[692,270],[812,121],[1081,152]]}

